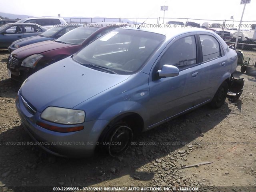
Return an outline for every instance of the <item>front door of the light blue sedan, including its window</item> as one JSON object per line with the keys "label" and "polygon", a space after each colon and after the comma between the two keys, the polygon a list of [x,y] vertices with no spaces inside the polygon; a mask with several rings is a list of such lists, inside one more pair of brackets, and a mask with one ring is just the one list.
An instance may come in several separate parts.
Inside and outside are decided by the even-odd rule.
{"label": "front door of the light blue sedan, including its window", "polygon": [[[196,34],[190,33],[172,40],[160,55],[149,81],[151,125],[205,101],[199,54]],[[177,66],[180,74],[170,78],[154,78],[164,64]]]}

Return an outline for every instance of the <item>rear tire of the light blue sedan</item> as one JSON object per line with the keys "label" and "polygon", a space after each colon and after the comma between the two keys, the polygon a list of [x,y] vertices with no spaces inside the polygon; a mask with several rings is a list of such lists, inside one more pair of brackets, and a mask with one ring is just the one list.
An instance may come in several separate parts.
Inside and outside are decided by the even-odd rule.
{"label": "rear tire of the light blue sedan", "polygon": [[222,106],[222,104],[226,100],[227,94],[228,83],[224,81],[218,88],[217,92],[215,93],[212,102],[210,103],[211,107],[214,109],[220,108],[220,106]]}

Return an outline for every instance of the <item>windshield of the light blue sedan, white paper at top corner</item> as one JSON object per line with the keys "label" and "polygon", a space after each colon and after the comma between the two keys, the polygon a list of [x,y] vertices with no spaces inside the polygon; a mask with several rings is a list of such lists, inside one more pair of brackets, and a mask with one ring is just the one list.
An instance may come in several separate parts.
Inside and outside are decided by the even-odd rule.
{"label": "windshield of the light blue sedan, white paper at top corner", "polygon": [[116,29],[83,48],[73,59],[84,66],[90,64],[116,74],[133,74],[142,68],[165,39],[162,34]]}

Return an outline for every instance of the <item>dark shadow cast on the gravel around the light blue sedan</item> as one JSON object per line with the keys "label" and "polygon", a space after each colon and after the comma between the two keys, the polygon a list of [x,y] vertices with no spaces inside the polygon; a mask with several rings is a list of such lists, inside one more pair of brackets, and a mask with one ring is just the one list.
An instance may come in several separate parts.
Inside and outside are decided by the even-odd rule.
{"label": "dark shadow cast on the gravel around the light blue sedan", "polygon": [[[227,101],[227,100],[226,100]],[[231,110],[224,104],[218,110],[207,105],[166,122],[138,136],[124,155],[112,158],[98,154],[91,158],[60,158],[48,154],[32,141],[22,125],[0,134],[0,183],[12,186],[90,186],[123,176],[150,181],[155,170],[145,165],[168,156],[175,150],[218,125]],[[151,142],[151,144],[144,144]],[[169,144],[168,144],[169,143]],[[184,160],[182,160],[184,161]],[[184,161],[184,163],[186,163]],[[177,164],[177,166],[180,166]],[[159,170],[158,170],[159,171]],[[162,170],[165,173],[168,171]],[[171,173],[170,173],[171,174]],[[132,183],[127,180],[126,185]],[[16,191],[16,190],[14,190]],[[18,191],[18,190],[17,190]]]}

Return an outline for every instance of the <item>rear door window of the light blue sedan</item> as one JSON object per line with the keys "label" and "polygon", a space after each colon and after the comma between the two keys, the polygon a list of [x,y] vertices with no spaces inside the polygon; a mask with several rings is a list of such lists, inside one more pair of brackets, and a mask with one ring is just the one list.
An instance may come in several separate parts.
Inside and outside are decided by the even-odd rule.
{"label": "rear door window of the light blue sedan", "polygon": [[203,62],[221,56],[220,44],[210,35],[200,35],[200,42],[202,45]]}

